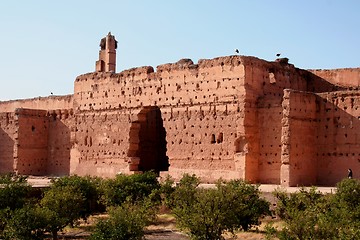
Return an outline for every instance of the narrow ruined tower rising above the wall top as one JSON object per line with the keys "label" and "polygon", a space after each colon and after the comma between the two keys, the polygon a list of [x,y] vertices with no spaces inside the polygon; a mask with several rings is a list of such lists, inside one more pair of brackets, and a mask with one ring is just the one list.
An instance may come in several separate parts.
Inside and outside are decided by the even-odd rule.
{"label": "narrow ruined tower rising above the wall top", "polygon": [[99,60],[96,61],[96,72],[115,72],[117,41],[111,32],[101,39],[100,48]]}

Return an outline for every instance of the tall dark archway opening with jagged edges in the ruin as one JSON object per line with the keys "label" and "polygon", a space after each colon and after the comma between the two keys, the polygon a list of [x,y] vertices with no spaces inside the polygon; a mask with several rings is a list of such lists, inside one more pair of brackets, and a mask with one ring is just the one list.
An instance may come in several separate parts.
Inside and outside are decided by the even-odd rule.
{"label": "tall dark archway opening with jagged edges in the ruin", "polygon": [[130,171],[167,171],[166,131],[159,107],[144,107],[131,123],[129,133]]}

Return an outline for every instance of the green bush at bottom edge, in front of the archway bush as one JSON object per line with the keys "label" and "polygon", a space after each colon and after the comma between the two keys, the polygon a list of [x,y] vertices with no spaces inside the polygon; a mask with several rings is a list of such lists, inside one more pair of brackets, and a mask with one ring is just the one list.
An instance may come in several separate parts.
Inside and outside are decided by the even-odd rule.
{"label": "green bush at bottom edge, in front of the archway bush", "polygon": [[100,220],[91,234],[91,240],[139,240],[143,239],[144,227],[151,220],[149,209],[124,203],[111,207],[109,218]]}

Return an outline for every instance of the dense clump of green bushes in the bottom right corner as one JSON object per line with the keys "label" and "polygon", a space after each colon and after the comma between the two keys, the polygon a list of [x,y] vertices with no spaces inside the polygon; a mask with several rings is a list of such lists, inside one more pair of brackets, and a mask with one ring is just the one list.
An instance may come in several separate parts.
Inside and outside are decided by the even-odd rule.
{"label": "dense clump of green bushes in the bottom right corner", "polygon": [[[276,212],[285,223],[275,235],[279,239],[360,239],[360,182],[345,179],[337,187],[334,195],[323,195],[316,188],[275,192]],[[271,235],[273,230],[268,228]]]}

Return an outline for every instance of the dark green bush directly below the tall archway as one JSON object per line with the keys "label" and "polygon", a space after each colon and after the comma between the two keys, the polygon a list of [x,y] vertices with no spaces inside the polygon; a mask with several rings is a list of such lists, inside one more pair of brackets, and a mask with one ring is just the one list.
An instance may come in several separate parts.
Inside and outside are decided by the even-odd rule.
{"label": "dark green bush directly below the tall archway", "polygon": [[129,176],[119,174],[115,179],[104,181],[102,201],[106,206],[120,206],[125,201],[143,201],[159,188],[160,184],[153,172]]}

